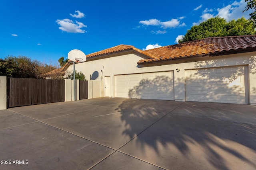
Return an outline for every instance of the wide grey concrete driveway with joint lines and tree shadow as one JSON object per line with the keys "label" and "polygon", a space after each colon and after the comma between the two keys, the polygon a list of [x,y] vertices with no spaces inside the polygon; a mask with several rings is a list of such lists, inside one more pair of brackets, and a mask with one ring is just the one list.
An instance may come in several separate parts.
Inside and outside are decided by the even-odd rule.
{"label": "wide grey concrete driveway with joint lines and tree shadow", "polygon": [[1,170],[255,170],[256,106],[95,98],[0,110],[0,160]]}

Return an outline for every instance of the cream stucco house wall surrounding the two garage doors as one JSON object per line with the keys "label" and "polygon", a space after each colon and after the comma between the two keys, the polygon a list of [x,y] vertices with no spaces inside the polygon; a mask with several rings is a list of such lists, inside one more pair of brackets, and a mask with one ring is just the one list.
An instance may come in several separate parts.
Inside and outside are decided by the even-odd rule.
{"label": "cream stucco house wall surrounding the two garage doors", "polygon": [[[115,94],[114,75],[174,71],[175,100],[185,101],[185,70],[245,65],[249,74],[249,103],[256,104],[256,52],[217,57],[192,57],[188,59],[177,59],[174,61],[169,61],[168,64],[167,62],[158,62],[148,66],[138,66],[137,62],[140,59],[143,58],[138,54],[127,53],[121,56],[78,63],[75,66],[78,72],[82,71],[84,73],[87,80],[90,80],[90,76],[92,75],[98,75],[96,81],[101,80],[101,76],[103,76],[102,80],[104,80],[104,76],[110,76],[111,97],[114,97]],[[180,72],[177,72],[176,68],[179,68]],[[73,65],[67,69],[67,72],[72,72],[72,70]]]}

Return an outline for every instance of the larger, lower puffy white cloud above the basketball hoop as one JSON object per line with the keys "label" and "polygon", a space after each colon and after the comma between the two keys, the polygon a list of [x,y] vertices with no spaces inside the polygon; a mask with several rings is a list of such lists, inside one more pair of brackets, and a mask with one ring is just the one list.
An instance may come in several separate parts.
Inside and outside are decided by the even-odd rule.
{"label": "larger, lower puffy white cloud above the basketball hoop", "polygon": [[56,23],[58,23],[58,25],[60,25],[59,29],[61,29],[62,31],[66,31],[69,33],[84,33],[84,32],[86,32],[82,28],[87,27],[87,26],[84,25],[84,23],[82,23],[82,22],[76,21],[76,23],[74,23],[74,21],[72,21],[72,20],[64,19],[64,20],[57,20]]}

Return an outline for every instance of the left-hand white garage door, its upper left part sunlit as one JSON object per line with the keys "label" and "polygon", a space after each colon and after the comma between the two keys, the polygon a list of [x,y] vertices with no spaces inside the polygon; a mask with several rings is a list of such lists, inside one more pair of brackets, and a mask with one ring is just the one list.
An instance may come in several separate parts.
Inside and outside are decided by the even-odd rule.
{"label": "left-hand white garage door, its upper left part sunlit", "polygon": [[174,100],[173,72],[115,76],[115,95],[121,98]]}

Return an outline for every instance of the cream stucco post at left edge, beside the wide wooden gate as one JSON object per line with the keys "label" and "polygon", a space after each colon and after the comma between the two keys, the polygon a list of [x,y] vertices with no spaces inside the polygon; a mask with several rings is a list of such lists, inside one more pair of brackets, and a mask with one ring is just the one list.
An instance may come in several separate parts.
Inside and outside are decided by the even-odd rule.
{"label": "cream stucco post at left edge, beside the wide wooden gate", "polygon": [[7,109],[7,78],[0,76],[0,110]]}

